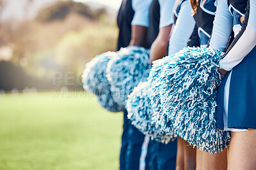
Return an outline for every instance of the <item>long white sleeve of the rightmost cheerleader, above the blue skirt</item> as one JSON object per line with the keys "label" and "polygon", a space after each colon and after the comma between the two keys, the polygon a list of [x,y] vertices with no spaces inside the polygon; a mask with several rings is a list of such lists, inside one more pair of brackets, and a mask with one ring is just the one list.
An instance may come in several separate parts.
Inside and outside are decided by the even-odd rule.
{"label": "long white sleeve of the rightmost cheerleader, above the blue skirt", "polygon": [[250,1],[248,24],[242,36],[220,61],[221,68],[230,71],[239,64],[256,45],[256,0]]}

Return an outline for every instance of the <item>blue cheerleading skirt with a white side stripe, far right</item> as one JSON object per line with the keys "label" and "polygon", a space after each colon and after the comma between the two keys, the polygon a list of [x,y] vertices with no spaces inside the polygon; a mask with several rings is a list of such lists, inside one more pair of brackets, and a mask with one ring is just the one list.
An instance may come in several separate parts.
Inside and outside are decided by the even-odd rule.
{"label": "blue cheerleading skirt with a white side stripe, far right", "polygon": [[256,129],[256,46],[228,72],[218,87],[217,127]]}

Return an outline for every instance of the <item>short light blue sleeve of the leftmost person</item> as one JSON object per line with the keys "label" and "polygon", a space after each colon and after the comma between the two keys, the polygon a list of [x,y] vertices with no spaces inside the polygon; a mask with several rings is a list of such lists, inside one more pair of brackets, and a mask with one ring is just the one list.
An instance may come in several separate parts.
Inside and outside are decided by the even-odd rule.
{"label": "short light blue sleeve of the leftmost person", "polygon": [[152,0],[132,0],[132,9],[134,10],[132,25],[148,27],[151,3]]}

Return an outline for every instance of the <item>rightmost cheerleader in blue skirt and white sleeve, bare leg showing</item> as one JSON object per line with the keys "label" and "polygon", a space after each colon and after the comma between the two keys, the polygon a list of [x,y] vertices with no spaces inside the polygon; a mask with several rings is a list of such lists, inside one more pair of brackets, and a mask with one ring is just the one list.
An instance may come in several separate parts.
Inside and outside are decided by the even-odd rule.
{"label": "rightmost cheerleader in blue skirt and white sleeve, bare leg showing", "polygon": [[[244,9],[237,9],[246,3],[243,17]],[[228,169],[255,169],[256,1],[237,0],[230,4],[241,15],[233,15],[233,19],[243,26],[220,61],[225,77],[218,87],[217,124],[224,131],[231,131]]]}

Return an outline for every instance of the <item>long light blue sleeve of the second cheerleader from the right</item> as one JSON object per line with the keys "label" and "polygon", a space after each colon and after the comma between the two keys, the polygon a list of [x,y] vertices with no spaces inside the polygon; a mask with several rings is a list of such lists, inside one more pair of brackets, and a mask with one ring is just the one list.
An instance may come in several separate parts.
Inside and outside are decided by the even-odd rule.
{"label": "long light blue sleeve of the second cheerleader from the right", "polygon": [[209,47],[225,51],[232,32],[232,15],[228,10],[227,0],[217,0],[212,35]]}

